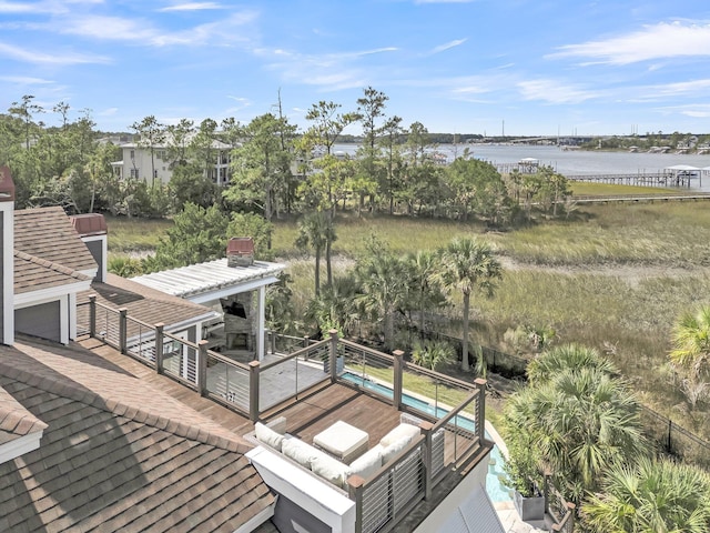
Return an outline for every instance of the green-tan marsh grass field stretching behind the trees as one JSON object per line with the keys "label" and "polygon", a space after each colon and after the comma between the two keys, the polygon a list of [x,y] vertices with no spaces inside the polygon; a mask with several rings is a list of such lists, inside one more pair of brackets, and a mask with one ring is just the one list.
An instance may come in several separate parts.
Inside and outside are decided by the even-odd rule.
{"label": "green-tan marsh grass field stretching behind the trees", "polygon": [[[151,249],[170,227],[169,221],[108,223],[111,253]],[[478,342],[510,351],[506,331],[551,326],[556,342],[598,348],[646,404],[710,438],[710,420],[688,408],[667,364],[679,314],[710,304],[710,203],[585,205],[569,219],[507,232],[487,232],[475,223],[347,214],[338,215],[336,233],[336,271],[352,264],[373,233],[400,253],[434,250],[456,235],[489,241],[506,268],[495,298],[471,303]],[[290,264],[302,315],[313,293],[314,268],[307,251],[294,247],[296,234],[293,221],[276,223],[274,249]],[[460,310],[448,313],[457,319]],[[456,325],[446,332],[456,334]]]}

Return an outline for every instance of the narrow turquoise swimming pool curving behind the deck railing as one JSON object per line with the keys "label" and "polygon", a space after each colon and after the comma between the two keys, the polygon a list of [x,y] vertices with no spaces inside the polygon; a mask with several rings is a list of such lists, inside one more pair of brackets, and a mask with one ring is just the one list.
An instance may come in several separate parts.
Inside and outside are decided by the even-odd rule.
{"label": "narrow turquoise swimming pool curving behind the deck railing", "polygon": [[[354,374],[352,372],[344,372],[341,374],[341,378],[349,381],[351,383],[355,383],[368,391],[377,392],[386,398],[392,398],[393,392],[392,388],[383,385],[381,383],[376,383],[372,380],[363,378],[361,375]],[[442,408],[435,408],[428,402],[415,398],[410,394],[403,393],[402,400],[405,405],[409,405],[410,408],[415,408],[424,413],[433,414],[436,418],[440,418],[446,415],[448,411]],[[469,431],[475,431],[474,421],[467,419],[465,416],[456,416],[456,422],[464,429]],[[486,432],[486,439],[493,441],[493,438]],[[505,476],[503,465],[505,464],[505,457],[503,453],[500,453],[500,449],[498,445],[494,445],[493,451],[490,452],[490,456],[488,459],[488,472],[486,473],[486,492],[490,497],[490,501],[494,503],[498,502],[511,502],[513,495],[510,489],[503,483],[503,479]]]}

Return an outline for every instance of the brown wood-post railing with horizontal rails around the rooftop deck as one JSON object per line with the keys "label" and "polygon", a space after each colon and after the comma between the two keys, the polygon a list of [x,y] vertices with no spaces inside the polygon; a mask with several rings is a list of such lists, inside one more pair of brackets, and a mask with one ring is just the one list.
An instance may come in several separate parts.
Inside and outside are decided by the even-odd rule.
{"label": "brown wood-post railing with horizontal rails around the rooftop deck", "polygon": [[95,296],[89,306],[92,336],[252,421],[324,380],[358,388],[418,416],[419,438],[369,480],[348,480],[356,532],[392,530],[430,497],[447,469],[465,464],[484,442],[484,380],[465,383],[406,363],[402,352],[388,355],[341,340],[336,331],[267,363],[244,364],[207,350],[207,341],[191,342],[164,331],[163,324],[151,326]]}

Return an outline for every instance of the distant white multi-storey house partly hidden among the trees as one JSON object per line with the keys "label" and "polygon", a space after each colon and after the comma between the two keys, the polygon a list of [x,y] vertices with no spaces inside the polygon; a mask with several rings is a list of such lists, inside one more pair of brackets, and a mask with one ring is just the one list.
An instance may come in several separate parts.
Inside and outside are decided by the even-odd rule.
{"label": "distant white multi-storey house partly hidden among the trees", "polygon": [[[121,161],[111,163],[113,173],[121,179],[141,179],[148,183],[161,182],[168,184],[173,175],[168,160],[169,144],[163,142],[153,147],[153,158],[151,161],[151,149],[138,142],[121,144]],[[230,152],[232,147],[224,142],[212,141],[212,149],[215,151],[215,163],[211,169],[210,177],[217,185],[226,185],[230,182]],[[154,169],[154,170],[153,170]],[[151,175],[153,172],[153,175]]]}

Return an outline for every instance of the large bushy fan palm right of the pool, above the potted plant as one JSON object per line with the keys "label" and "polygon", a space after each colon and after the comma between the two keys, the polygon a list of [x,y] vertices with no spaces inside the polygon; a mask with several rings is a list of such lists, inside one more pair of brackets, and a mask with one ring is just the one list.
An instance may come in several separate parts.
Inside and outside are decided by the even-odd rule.
{"label": "large bushy fan palm right of the pool, above the potted plant", "polygon": [[639,404],[628,384],[595,366],[567,368],[510,396],[506,434],[535,442],[542,463],[580,501],[601,474],[647,453]]}

